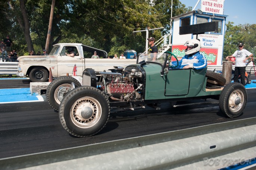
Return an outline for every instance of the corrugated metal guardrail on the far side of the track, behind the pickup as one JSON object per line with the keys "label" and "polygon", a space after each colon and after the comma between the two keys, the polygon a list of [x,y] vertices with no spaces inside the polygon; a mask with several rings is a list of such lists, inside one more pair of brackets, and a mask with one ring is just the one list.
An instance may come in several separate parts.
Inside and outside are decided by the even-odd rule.
{"label": "corrugated metal guardrail on the far side of the track, behind the pickup", "polygon": [[[235,69],[235,66],[232,66]],[[250,66],[246,67],[246,71],[250,71]],[[222,70],[222,65],[208,65],[207,70],[213,71]],[[256,69],[256,68],[255,68]],[[0,62],[0,75],[16,75],[18,71],[18,62]],[[252,69],[252,73],[255,74],[254,69]]]}

